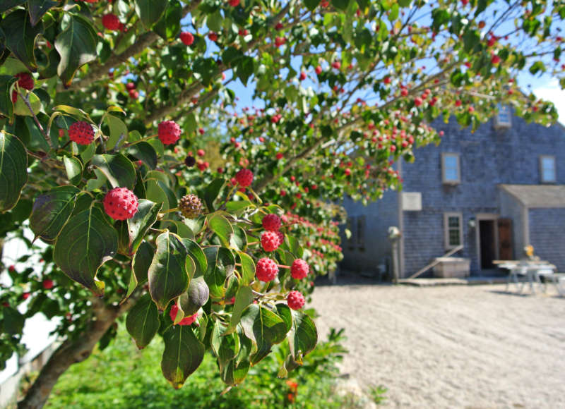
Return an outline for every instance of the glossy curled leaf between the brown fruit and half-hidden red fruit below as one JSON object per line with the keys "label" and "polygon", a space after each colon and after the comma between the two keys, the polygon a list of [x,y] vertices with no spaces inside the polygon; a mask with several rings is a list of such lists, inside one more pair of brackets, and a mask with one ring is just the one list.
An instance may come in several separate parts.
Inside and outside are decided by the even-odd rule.
{"label": "glossy curled leaf between the brown fruit and half-hidden red fruit below", "polygon": [[148,271],[149,293],[162,311],[173,298],[189,288],[190,279],[186,271],[188,251],[181,239],[169,231],[157,236],[155,243],[157,250]]}

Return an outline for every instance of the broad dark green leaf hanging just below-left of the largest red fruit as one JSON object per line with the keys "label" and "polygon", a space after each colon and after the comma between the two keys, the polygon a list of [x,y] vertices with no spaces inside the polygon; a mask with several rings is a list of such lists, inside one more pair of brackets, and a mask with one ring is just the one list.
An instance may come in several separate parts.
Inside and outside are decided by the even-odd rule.
{"label": "broad dark green leaf hanging just below-left of the largest red fruit", "polygon": [[95,295],[104,293],[104,283],[96,281],[98,269],[118,250],[118,233],[102,211],[90,207],[72,216],[57,238],[53,259],[70,279]]}

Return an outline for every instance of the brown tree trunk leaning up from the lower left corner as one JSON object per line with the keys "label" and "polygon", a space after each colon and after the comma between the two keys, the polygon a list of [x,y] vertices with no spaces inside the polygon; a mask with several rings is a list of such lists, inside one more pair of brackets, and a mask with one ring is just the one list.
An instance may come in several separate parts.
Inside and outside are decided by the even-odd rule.
{"label": "brown tree trunk leaning up from the lower left corner", "polygon": [[25,398],[18,403],[18,409],[42,408],[61,374],[71,365],[88,358],[107,329],[114,324],[117,317],[129,310],[136,300],[136,297],[131,297],[123,305],[115,307],[105,305],[98,298],[93,299],[95,319],[78,339],[74,341],[67,339],[55,350],[31,388],[25,393]]}

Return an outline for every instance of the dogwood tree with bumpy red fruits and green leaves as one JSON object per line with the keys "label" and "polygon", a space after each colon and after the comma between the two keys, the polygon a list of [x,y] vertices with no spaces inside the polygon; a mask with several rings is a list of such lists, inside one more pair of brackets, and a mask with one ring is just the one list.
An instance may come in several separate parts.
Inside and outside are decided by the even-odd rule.
{"label": "dogwood tree with bumpy red fruits and green leaves", "polygon": [[61,318],[63,339],[20,408],[42,407],[117,319],[139,348],[162,336],[175,388],[206,350],[232,386],[286,343],[285,376],[316,345],[311,281],[341,257],[332,203],[399,187],[394,162],[439,142],[440,116],[474,129],[511,104],[555,121],[521,71],[565,87],[563,0],[7,0],[0,13],[0,230],[29,246],[4,266],[0,362],[37,312]]}

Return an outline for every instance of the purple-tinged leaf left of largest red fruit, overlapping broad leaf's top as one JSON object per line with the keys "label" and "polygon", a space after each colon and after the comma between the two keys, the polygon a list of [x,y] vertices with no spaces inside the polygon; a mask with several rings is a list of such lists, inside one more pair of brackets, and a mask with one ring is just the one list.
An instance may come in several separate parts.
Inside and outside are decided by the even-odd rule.
{"label": "purple-tinged leaf left of largest red fruit, overlapping broad leaf's top", "polygon": [[69,220],[80,191],[74,186],[64,185],[37,196],[30,217],[30,228],[35,238],[54,243]]}

